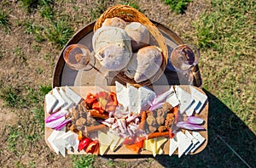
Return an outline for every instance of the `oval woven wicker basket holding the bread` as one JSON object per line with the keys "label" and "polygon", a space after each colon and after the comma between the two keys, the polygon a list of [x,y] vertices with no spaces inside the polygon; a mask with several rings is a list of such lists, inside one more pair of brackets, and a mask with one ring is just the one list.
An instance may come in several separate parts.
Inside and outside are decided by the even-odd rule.
{"label": "oval woven wicker basket holding the bread", "polygon": [[150,20],[148,20],[148,18],[144,14],[140,13],[136,8],[132,8],[126,5],[116,5],[111,8],[108,8],[99,17],[99,19],[96,20],[96,24],[94,25],[94,31],[96,31],[102,26],[102,23],[104,22],[104,20],[108,18],[113,18],[113,17],[119,17],[120,19],[125,20],[126,22],[139,22],[145,25],[148,31],[151,33],[151,36],[154,37],[154,40],[156,41],[163,55],[163,62],[160,66],[160,70],[158,70],[156,74],[151,78],[149,78],[147,81],[142,81],[140,83],[137,83],[131,78],[125,76],[123,72],[118,73],[116,77],[119,78],[120,81],[123,81],[125,83],[130,83],[134,87],[151,85],[154,81],[157,81],[160,78],[160,76],[164,73],[164,70],[166,69],[168,51],[167,51],[164,36],[162,36],[160,31],[157,29],[157,27]]}

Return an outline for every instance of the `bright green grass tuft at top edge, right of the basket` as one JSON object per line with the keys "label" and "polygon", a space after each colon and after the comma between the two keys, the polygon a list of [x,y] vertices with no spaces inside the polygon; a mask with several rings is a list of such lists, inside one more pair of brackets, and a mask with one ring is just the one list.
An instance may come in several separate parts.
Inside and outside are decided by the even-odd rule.
{"label": "bright green grass tuft at top edge, right of the basket", "polygon": [[191,3],[192,0],[165,0],[165,3],[171,7],[173,12],[177,14],[185,14],[188,3]]}

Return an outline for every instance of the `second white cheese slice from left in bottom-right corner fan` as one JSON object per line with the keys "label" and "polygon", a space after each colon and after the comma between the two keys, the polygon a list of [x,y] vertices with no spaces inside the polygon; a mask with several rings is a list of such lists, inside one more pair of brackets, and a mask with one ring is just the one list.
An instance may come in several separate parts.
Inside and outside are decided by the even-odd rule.
{"label": "second white cheese slice from left in bottom-right corner fan", "polygon": [[180,158],[185,151],[190,148],[192,144],[191,140],[189,137],[187,137],[183,132],[177,132],[177,154],[178,157]]}

